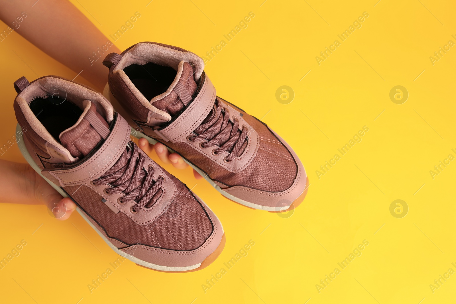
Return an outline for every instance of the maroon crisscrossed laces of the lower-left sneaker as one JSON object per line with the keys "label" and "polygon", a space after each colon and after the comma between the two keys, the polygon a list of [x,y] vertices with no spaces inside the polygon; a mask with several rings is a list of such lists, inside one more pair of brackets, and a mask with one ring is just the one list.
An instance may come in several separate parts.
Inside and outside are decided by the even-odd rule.
{"label": "maroon crisscrossed laces of the lower-left sneaker", "polygon": [[[93,180],[93,185],[109,184],[112,188],[106,188],[105,193],[108,195],[123,192],[125,196],[119,199],[120,204],[128,201],[136,201],[137,204],[132,206],[130,211],[137,213],[144,206],[150,207],[149,202],[154,202],[160,194],[164,178],[160,175],[154,182],[154,167],[150,166],[149,170],[144,170],[145,156],[139,153],[138,146],[131,142],[127,145],[119,160],[98,179]],[[144,178],[144,180],[143,180]],[[143,181],[142,181],[143,180]],[[142,181],[142,182],[141,182]],[[158,195],[157,195],[158,196]],[[154,198],[153,201],[150,201]]]}

